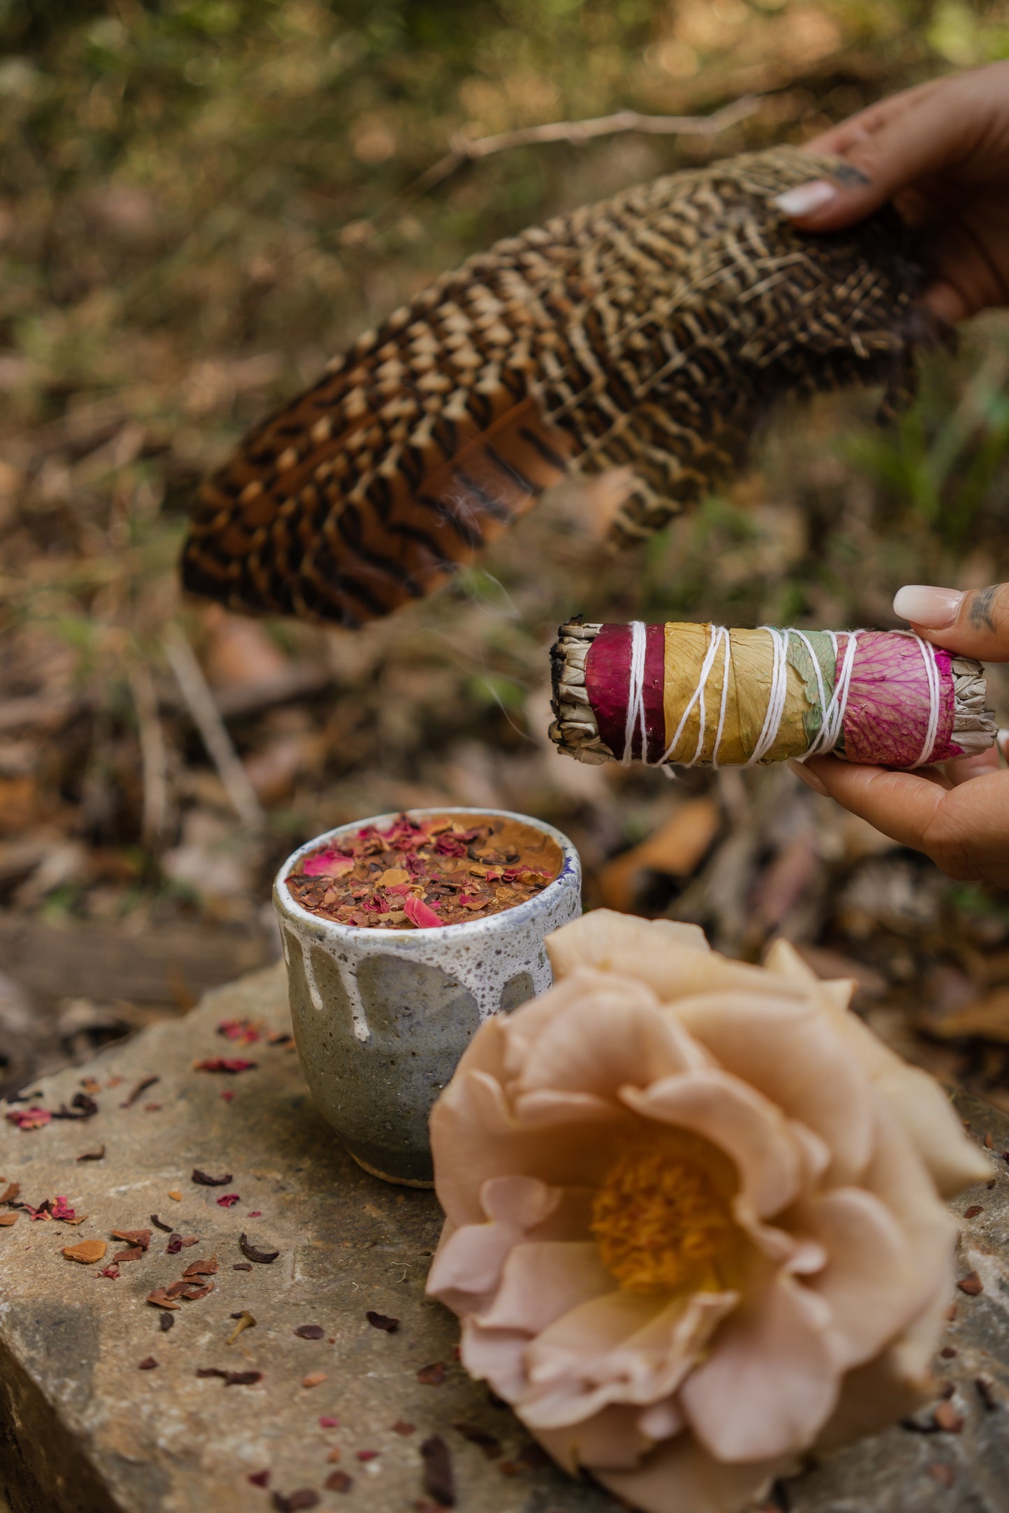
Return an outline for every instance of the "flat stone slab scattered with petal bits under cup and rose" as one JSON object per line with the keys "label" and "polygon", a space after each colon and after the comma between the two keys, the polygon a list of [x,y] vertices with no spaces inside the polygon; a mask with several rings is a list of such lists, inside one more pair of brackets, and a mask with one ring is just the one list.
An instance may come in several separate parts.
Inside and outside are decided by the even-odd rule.
{"label": "flat stone slab scattered with petal bits under cup and rose", "polygon": [[[219,988],[185,1021],[145,1030],[32,1085],[38,1097],[3,1106],[86,1112],[86,1101],[73,1108],[77,1094],[98,1103],[89,1118],[35,1130],[5,1120],[0,1132],[0,1173],[21,1185],[18,1201],[38,1209],[62,1195],[88,1215],[70,1226],[18,1210],[0,1229],[0,1490],[15,1513],[254,1513],[283,1507],[275,1492],[300,1489],[318,1492],[318,1507],[331,1513],[402,1513],[431,1505],[422,1446],[433,1437],[448,1448],[457,1505],[469,1513],[614,1510],[608,1495],[545,1463],[455,1362],[457,1322],[424,1297],[440,1230],[434,1195],[360,1171],[315,1114],[290,1044],[228,1041],[218,1033],[224,1020],[286,1033],[283,968]],[[257,1065],[194,1070],[221,1056]],[[157,1080],[136,1092],[148,1077]],[[1009,1118],[970,1100],[964,1117],[980,1141],[991,1138],[994,1186],[956,1204],[959,1213],[982,1210],[964,1221],[961,1274],[974,1271],[983,1291],[956,1294],[945,1342],[955,1354],[936,1362],[952,1395],[914,1427],[781,1484],[775,1508],[1007,1505]],[[77,1159],[100,1148],[98,1160]],[[228,1182],[203,1186],[194,1168]],[[195,1244],[169,1253],[151,1215]],[[153,1235],[147,1253],[106,1277],[101,1268],[126,1248],[113,1229]],[[277,1259],[247,1260],[242,1233]],[[88,1239],[109,1242],[101,1262],[65,1259],[64,1247]],[[163,1310],[147,1295],[209,1256],[218,1259],[213,1291],[182,1301],[162,1331]],[[256,1325],[227,1344],[242,1312]],[[375,1327],[369,1312],[399,1324]],[[304,1325],[322,1336],[298,1336]],[[157,1365],[141,1369],[148,1357]],[[227,1384],[201,1369],[262,1375]],[[939,1401],[953,1428],[936,1424]],[[248,1480],[263,1471],[266,1490]],[[339,1471],[352,1478],[348,1492],[325,1487]]]}

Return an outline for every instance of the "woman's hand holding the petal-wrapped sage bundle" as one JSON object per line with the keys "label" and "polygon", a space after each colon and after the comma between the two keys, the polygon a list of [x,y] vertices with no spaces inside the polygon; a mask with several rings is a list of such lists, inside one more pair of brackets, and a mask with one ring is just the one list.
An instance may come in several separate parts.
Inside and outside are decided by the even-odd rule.
{"label": "woman's hand holding the petal-wrapped sage bundle", "polygon": [[[902,589],[894,610],[936,646],[1009,661],[1009,584],[973,593]],[[1009,760],[1009,731],[1000,732],[998,744]],[[837,756],[791,769],[883,835],[924,852],[950,878],[1009,887],[1009,772],[1000,770],[997,747],[921,772],[856,767]]]}

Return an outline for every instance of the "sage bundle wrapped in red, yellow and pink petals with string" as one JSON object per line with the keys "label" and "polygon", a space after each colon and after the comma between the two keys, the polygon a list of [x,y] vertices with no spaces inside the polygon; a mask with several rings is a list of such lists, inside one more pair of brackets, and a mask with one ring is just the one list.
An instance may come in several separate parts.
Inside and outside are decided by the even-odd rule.
{"label": "sage bundle wrapped in red, yellow and pink petals with string", "polygon": [[561,625],[551,738],[578,761],[921,767],[995,740],[985,669],[911,631]]}

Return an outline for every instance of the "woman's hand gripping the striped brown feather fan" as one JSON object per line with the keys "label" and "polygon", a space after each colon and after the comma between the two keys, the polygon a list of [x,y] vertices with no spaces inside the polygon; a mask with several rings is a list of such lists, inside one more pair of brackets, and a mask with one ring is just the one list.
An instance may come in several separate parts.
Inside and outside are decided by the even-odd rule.
{"label": "woman's hand gripping the striped brown feather fan", "polygon": [[806,145],[846,168],[778,197],[797,225],[837,231],[893,200],[926,233],[938,316],[1009,304],[1009,62],[905,89]]}

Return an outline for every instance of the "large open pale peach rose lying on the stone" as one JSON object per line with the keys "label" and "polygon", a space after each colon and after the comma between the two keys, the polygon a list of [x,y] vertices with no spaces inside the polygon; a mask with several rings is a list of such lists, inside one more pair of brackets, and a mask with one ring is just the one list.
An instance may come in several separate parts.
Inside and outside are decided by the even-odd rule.
{"label": "large open pale peach rose lying on the stone", "polygon": [[941,1089],[796,952],[596,911],[475,1035],[431,1115],[428,1291],[466,1369],[569,1471],[728,1513],[918,1401],[985,1180]]}

